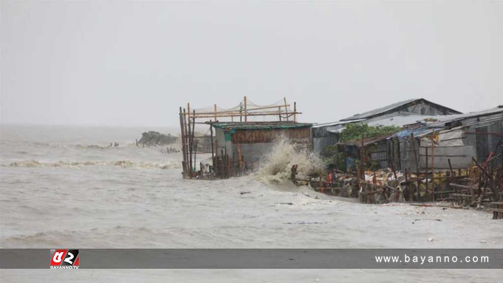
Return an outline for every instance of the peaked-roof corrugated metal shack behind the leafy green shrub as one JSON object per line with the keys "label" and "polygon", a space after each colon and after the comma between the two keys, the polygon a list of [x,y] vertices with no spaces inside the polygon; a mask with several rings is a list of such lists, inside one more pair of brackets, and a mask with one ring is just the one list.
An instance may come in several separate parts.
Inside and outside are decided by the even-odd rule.
{"label": "peaked-roof corrugated metal shack behind the leafy green shrub", "polygon": [[[367,123],[369,125],[395,125],[403,126],[414,123],[425,117],[436,115],[460,114],[454,109],[433,103],[426,99],[409,99],[393,103],[378,109],[356,114],[351,117],[341,119],[338,122],[313,125],[313,151],[323,155],[326,147],[337,144],[340,132],[348,123]],[[385,144],[385,143],[384,143]],[[382,148],[385,145],[381,145]],[[381,151],[384,149],[381,149]],[[386,158],[379,157],[386,160]],[[386,162],[382,161],[382,165]]]}

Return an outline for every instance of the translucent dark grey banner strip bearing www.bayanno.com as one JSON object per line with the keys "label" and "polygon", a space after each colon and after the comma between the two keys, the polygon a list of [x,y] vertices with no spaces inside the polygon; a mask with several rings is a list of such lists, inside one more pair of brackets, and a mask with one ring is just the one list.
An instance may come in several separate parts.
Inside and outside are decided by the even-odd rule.
{"label": "translucent dark grey banner strip bearing www.bayanno.com", "polygon": [[[79,268],[503,268],[503,249],[79,249],[78,256]],[[49,263],[50,249],[0,249],[0,268]]]}

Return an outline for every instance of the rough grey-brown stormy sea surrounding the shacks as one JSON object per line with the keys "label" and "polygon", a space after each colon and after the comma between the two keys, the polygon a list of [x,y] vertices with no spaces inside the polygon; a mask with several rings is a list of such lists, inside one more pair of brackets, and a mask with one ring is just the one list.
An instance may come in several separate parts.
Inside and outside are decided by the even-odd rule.
{"label": "rough grey-brown stormy sea surrounding the shacks", "polygon": [[[286,144],[248,176],[184,180],[181,153],[136,146],[147,130],[179,133],[2,125],[0,247],[503,248],[501,222],[484,211],[361,204],[297,187],[286,180],[284,165],[315,161]],[[198,159],[209,162],[210,155]],[[502,275],[501,269],[4,269],[0,281],[496,282]]]}

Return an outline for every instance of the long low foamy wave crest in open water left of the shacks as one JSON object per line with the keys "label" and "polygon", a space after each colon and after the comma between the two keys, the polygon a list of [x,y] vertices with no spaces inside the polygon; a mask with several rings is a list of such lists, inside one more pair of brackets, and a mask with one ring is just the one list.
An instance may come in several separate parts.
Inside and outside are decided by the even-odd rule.
{"label": "long low foamy wave crest in open water left of the shacks", "polygon": [[148,161],[58,161],[58,162],[39,162],[37,160],[25,160],[13,162],[9,167],[70,167],[81,168],[86,166],[118,166],[122,168],[137,168],[137,169],[176,169],[181,168],[180,162],[148,162]]}

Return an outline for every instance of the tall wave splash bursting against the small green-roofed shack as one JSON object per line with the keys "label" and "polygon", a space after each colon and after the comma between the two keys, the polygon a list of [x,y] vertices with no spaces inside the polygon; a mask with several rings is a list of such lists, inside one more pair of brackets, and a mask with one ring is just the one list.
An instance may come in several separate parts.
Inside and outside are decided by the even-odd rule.
{"label": "tall wave splash bursting against the small green-roofed shack", "polygon": [[275,140],[273,149],[262,164],[256,176],[277,182],[289,179],[290,169],[295,164],[297,164],[297,176],[299,178],[305,178],[310,174],[324,171],[323,162],[319,156],[307,149],[299,149],[285,137]]}

